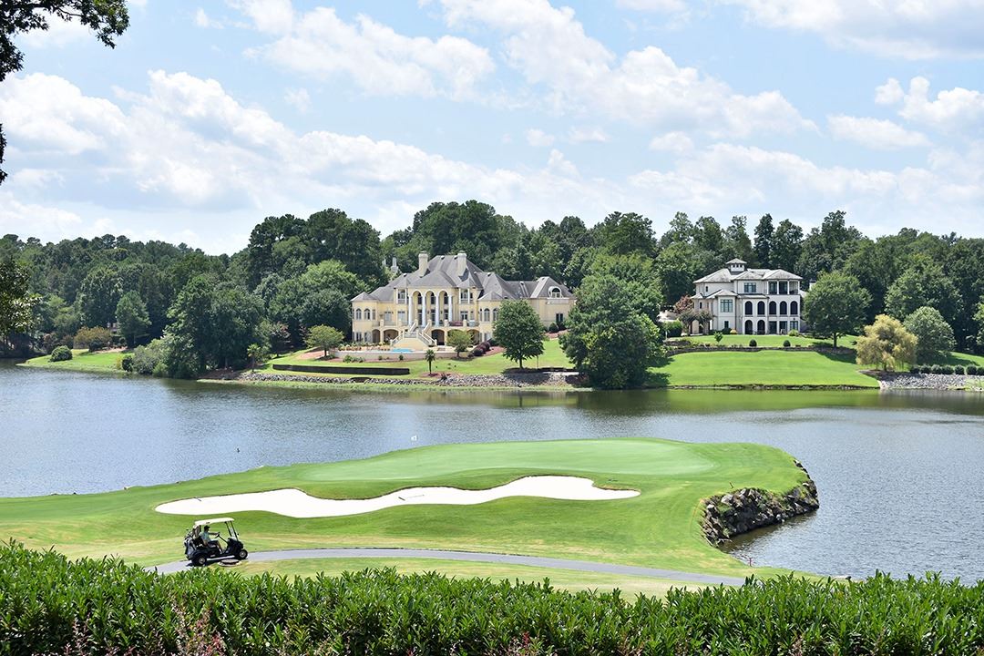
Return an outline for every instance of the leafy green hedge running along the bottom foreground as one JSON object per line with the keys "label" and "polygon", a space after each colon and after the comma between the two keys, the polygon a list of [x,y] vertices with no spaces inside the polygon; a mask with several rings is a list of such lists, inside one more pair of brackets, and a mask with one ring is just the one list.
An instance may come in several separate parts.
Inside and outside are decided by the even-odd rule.
{"label": "leafy green hedge running along the bottom foreground", "polygon": [[984,581],[814,582],[671,591],[399,575],[162,576],[0,548],[10,654],[953,654],[984,650]]}

